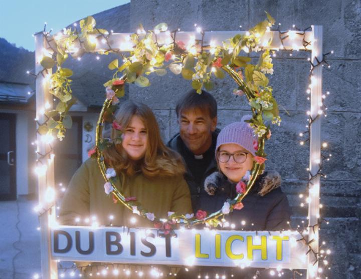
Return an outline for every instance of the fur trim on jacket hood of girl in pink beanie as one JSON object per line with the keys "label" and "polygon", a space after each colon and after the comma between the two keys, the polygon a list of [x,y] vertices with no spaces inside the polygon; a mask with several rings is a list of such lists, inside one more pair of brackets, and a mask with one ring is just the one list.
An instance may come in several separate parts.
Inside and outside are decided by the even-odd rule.
{"label": "fur trim on jacket hood of girl in pink beanie", "polygon": [[[233,192],[234,190],[233,188],[235,188],[235,185],[236,183],[230,182],[223,173],[217,171],[212,173],[206,178],[204,183],[204,188],[205,191],[212,196],[221,186],[230,187],[231,188],[230,192]],[[280,174],[275,170],[271,170],[264,172],[258,177],[251,191],[257,192],[258,195],[260,196],[264,196],[269,192],[271,192],[273,189],[276,189],[280,186],[281,186]]]}

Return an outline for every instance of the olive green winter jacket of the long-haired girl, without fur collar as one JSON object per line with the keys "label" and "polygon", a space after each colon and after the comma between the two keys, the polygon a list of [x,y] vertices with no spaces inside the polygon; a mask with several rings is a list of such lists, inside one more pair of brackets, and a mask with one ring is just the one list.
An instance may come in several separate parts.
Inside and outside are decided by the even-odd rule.
{"label": "olive green winter jacket of the long-haired girl, without fur collar", "polygon": [[[88,159],[76,171],[62,200],[59,221],[63,225],[91,225],[93,216],[99,225],[153,227],[151,222],[120,204],[104,192],[105,180],[94,159]],[[191,194],[182,175],[146,178],[142,173],[127,177],[124,185],[119,179],[115,186],[125,197],[136,197],[144,209],[156,217],[166,218],[168,211],[192,213]],[[110,219],[110,216],[113,219]],[[136,217],[135,223],[130,218]],[[80,218],[80,221],[76,221]],[[89,223],[86,223],[89,218]]]}

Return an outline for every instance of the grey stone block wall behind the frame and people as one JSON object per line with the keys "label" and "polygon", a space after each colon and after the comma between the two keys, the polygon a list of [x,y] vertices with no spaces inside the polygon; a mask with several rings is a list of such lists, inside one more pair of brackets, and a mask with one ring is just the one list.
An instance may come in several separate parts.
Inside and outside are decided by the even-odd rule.
{"label": "grey stone block wall behind the frame and people", "polygon": [[[329,57],[330,69],[323,70],[323,90],[330,91],[325,100],[327,117],[322,119],[322,140],[329,143],[326,152],[332,160],[325,164],[327,179],[322,182],[321,214],[329,221],[321,229],[321,240],[332,250],[329,278],[360,278],[360,189],[361,189],[361,7],[359,1],[140,1],[130,4],[130,31],[139,23],[145,29],[166,22],[170,30],[193,31],[197,23],[204,30],[244,30],[265,19],[269,12],[287,30],[295,24],[304,29],[310,25],[323,26],[323,50]],[[279,53],[274,58],[274,75],[270,84],[281,105],[282,124],[273,127],[267,142],[267,168],[277,169],[283,177],[283,189],[289,195],[294,211],[293,225],[301,224],[307,215],[300,208],[298,193],[307,181],[308,147],[298,144],[298,134],[305,130],[309,102],[305,90],[310,69],[309,53],[293,57]],[[169,139],[177,131],[174,113],[179,95],[191,89],[189,81],[169,73],[150,77],[152,85],[145,89],[131,86],[129,96],[148,104],[156,113],[162,135]],[[219,127],[240,120],[249,112],[244,98],[234,97],[235,83],[218,80],[214,94],[219,105]]]}

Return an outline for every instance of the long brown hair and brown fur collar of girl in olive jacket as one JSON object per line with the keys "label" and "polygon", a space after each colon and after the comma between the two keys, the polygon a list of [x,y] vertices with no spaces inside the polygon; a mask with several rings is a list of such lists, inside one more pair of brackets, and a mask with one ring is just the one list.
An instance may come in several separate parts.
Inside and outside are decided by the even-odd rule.
{"label": "long brown hair and brown fur collar of girl in olive jacket", "polygon": [[[128,127],[133,116],[138,116],[147,131],[147,146],[144,157],[131,160],[121,144],[113,144],[103,154],[105,161],[115,169],[117,174],[133,175],[140,170],[146,177],[174,176],[185,173],[185,166],[180,155],[166,147],[160,137],[159,126],[151,109],[139,102],[126,101],[122,103],[115,114],[115,121],[122,127]],[[113,129],[111,138],[116,138]]]}

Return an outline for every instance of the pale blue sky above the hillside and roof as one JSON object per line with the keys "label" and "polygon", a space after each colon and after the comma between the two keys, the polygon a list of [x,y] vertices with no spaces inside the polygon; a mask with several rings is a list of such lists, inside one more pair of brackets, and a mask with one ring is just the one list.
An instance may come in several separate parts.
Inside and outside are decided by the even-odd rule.
{"label": "pale blue sky above the hillside and roof", "polygon": [[[0,0],[0,38],[34,51],[32,34],[62,30],[90,15],[129,3],[130,0]],[[115,31],[115,30],[114,30]]]}

